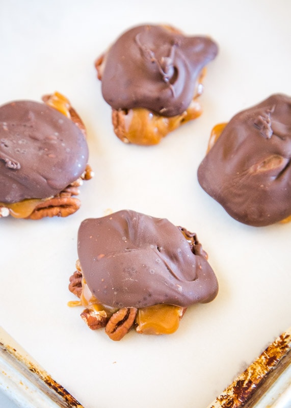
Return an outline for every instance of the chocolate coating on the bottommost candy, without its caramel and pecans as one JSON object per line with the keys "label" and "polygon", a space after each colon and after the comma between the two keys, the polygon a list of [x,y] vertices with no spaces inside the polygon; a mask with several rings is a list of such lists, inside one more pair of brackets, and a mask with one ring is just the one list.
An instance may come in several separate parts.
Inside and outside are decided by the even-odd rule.
{"label": "chocolate coating on the bottommost candy, without its caramel and pecans", "polygon": [[115,308],[213,300],[216,276],[197,242],[194,251],[167,219],[122,210],[82,222],[82,273],[97,299]]}

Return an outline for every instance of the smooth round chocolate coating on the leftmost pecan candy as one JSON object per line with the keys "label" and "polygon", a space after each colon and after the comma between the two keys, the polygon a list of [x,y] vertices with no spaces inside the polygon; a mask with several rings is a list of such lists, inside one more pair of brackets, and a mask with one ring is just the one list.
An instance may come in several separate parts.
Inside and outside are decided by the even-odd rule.
{"label": "smooth round chocolate coating on the leftmost pecan candy", "polygon": [[83,133],[56,109],[29,100],[0,107],[0,201],[54,196],[87,160]]}

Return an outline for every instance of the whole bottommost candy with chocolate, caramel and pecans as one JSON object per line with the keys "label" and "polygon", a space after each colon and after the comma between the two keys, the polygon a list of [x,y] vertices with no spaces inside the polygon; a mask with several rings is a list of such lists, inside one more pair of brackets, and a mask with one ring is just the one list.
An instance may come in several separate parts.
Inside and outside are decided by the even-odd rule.
{"label": "whole bottommost candy with chocolate, caramel and pecans", "polygon": [[197,235],[165,218],[121,210],[86,219],[77,248],[69,290],[86,308],[87,325],[105,327],[112,340],[131,327],[140,334],[174,333],[190,305],[218,292]]}

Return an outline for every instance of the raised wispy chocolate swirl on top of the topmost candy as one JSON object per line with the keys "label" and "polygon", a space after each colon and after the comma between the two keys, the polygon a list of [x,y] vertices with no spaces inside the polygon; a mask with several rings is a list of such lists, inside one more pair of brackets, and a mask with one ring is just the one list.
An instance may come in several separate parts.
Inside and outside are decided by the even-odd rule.
{"label": "raised wispy chocolate swirl on top of the topmost candy", "polygon": [[170,45],[170,55],[168,57],[162,57],[159,61],[155,57],[153,50],[151,50],[145,44],[141,43],[140,36],[141,33],[138,33],[135,37],[135,41],[138,44],[138,47],[140,48],[146,59],[149,59],[152,63],[155,63],[157,65],[158,71],[161,73],[163,81],[169,86],[173,97],[175,97],[175,90],[171,82],[173,82],[173,79],[175,77],[175,67],[173,61],[175,55],[175,47],[179,45],[178,42],[174,41]]}

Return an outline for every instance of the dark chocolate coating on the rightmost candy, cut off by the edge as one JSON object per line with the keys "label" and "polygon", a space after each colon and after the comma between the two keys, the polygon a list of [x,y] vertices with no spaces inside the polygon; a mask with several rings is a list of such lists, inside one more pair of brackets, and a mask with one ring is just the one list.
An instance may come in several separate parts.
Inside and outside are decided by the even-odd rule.
{"label": "dark chocolate coating on the rightmost candy, cut off by the edge", "polygon": [[236,114],[198,168],[201,187],[237,221],[291,215],[291,98],[271,95]]}

